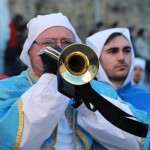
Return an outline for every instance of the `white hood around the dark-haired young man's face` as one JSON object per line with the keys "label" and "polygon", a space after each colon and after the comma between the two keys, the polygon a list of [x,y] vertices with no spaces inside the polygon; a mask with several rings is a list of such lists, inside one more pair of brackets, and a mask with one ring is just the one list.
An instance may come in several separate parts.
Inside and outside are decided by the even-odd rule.
{"label": "white hood around the dark-haired young man's face", "polygon": [[[102,52],[102,49],[104,47],[106,40],[108,39],[108,37],[112,33],[121,33],[122,35],[124,35],[128,39],[129,43],[131,44],[130,33],[129,33],[129,30],[127,28],[113,28],[113,29],[107,29],[107,30],[97,32],[94,35],[86,38],[86,44],[88,46],[90,46],[96,52],[98,58],[100,58],[100,55],[101,55],[101,52]],[[124,81],[122,86],[129,83],[132,79],[132,72],[133,72],[133,67],[134,67],[133,66],[133,64],[134,64],[134,51],[133,51],[132,44],[131,44],[131,48],[132,48],[132,50],[131,50],[131,52],[132,52],[131,67],[130,67],[129,74],[128,74],[128,76],[127,76],[127,78]],[[107,82],[107,83],[111,84],[112,86],[114,86],[111,83],[111,81],[108,79],[103,67],[101,66],[101,63],[100,63],[99,71],[97,73],[97,78],[100,81]]]}

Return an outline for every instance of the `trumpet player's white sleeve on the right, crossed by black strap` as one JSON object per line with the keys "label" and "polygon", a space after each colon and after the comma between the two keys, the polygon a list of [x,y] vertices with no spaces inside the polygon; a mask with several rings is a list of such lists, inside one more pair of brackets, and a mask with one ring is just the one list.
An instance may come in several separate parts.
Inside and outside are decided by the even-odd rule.
{"label": "trumpet player's white sleeve on the right, crossed by black strap", "polygon": [[[103,96],[115,106],[132,114],[129,107],[118,100]],[[110,111],[110,110],[107,110]],[[82,104],[78,108],[78,124],[86,130],[98,143],[109,150],[140,150],[141,138],[129,134],[111,124],[98,111],[92,112]]]}

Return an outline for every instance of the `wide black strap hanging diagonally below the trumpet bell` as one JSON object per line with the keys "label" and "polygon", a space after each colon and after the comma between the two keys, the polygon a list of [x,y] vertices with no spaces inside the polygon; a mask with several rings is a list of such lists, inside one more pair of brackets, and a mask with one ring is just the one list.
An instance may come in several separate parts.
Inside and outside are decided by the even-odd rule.
{"label": "wide black strap hanging diagonally below the trumpet bell", "polygon": [[[90,103],[94,106],[94,110],[98,110],[105,119],[116,127],[134,134],[139,137],[146,137],[148,133],[148,124],[144,124],[133,120],[134,117],[122,111],[91,87],[90,83],[76,87],[76,95],[83,99],[84,104],[90,109]],[[133,119],[131,119],[133,118]]]}

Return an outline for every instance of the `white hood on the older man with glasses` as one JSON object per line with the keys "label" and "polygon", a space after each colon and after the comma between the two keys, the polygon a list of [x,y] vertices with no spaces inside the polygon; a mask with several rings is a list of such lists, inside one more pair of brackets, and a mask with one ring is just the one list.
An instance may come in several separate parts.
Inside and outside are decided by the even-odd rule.
{"label": "white hood on the older man with glasses", "polygon": [[26,39],[20,59],[33,71],[28,51],[33,41],[46,29],[54,26],[63,26],[68,28],[75,36],[75,42],[81,43],[76,31],[68,18],[62,13],[53,13],[49,15],[38,15],[27,24],[29,30],[28,38]]}

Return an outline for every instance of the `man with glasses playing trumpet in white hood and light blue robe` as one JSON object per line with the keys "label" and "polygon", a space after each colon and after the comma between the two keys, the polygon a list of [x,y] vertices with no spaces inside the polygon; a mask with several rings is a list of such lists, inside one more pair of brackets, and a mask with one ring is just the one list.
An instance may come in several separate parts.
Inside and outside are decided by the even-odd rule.
{"label": "man with glasses playing trumpet in white hood and light blue robe", "polygon": [[[0,82],[0,149],[139,150],[140,137],[115,127],[84,103],[76,109],[76,122],[72,121],[72,100],[58,91],[57,61],[48,62],[37,54],[47,46],[56,46],[60,52],[81,43],[67,17],[61,13],[39,15],[31,19],[28,29],[20,58],[29,69]],[[117,95],[109,85],[95,81],[93,87],[132,114],[127,105],[115,101]]]}

